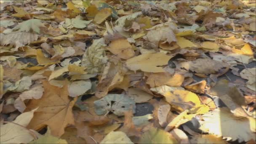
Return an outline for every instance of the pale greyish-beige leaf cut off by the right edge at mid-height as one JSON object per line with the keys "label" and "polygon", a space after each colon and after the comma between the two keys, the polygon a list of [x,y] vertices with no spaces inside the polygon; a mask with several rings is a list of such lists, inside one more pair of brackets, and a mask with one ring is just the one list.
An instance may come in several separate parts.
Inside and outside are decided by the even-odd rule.
{"label": "pale greyish-beige leaf cut off by the right edge at mid-height", "polygon": [[243,79],[248,80],[246,84],[251,85],[256,82],[256,67],[243,69],[240,75]]}

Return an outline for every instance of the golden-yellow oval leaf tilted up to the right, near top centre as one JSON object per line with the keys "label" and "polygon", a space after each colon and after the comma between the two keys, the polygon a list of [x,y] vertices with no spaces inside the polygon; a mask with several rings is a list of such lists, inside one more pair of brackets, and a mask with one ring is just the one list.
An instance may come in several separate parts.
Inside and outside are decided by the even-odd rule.
{"label": "golden-yellow oval leaf tilted up to the right, near top centre", "polygon": [[105,19],[107,19],[109,16],[112,14],[112,9],[111,8],[102,8],[99,13],[96,14],[94,18],[94,22],[96,24],[101,24]]}

